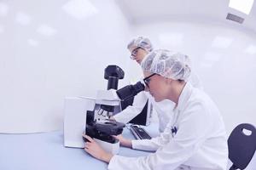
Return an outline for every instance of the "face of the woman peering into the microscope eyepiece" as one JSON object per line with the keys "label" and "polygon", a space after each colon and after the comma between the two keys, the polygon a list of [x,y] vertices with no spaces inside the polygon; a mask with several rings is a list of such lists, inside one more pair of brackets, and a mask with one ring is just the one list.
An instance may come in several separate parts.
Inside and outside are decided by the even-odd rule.
{"label": "face of the woman peering into the microscope eyepiece", "polygon": [[149,91],[156,102],[167,99],[168,83],[166,78],[161,77],[158,74],[154,74],[153,76],[152,75],[153,73],[144,72],[144,82],[147,83],[146,91]]}

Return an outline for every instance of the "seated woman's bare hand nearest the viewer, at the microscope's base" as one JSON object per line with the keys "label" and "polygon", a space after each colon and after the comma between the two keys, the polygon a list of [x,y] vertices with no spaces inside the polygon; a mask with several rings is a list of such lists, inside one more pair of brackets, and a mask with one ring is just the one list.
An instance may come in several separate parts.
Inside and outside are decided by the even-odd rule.
{"label": "seated woman's bare hand nearest the viewer, at the microscope's base", "polygon": [[85,133],[82,134],[85,139],[87,139],[89,142],[86,142],[84,145],[84,150],[89,153],[91,156],[102,160],[109,162],[113,155],[111,153],[108,153],[107,151],[103,150],[102,147],[96,143],[96,141],[90,136],[87,136]]}

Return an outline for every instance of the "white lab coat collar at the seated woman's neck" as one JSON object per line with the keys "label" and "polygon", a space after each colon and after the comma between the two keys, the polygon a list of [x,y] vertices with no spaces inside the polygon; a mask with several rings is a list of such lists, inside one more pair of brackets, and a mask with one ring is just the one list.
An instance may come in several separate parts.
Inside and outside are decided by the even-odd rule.
{"label": "white lab coat collar at the seated woman's neck", "polygon": [[175,110],[181,111],[184,108],[186,102],[188,101],[190,95],[192,94],[192,88],[192,85],[189,82],[186,82],[183,91],[178,98]]}

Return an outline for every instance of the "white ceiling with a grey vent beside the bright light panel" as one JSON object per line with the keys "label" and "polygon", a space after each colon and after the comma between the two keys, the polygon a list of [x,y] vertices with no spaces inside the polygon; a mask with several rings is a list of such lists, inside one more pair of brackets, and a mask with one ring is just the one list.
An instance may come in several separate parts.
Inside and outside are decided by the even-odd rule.
{"label": "white ceiling with a grey vent beside the bright light panel", "polygon": [[[221,22],[256,33],[256,3],[249,15],[229,8],[229,0],[116,0],[133,24],[154,21]],[[226,20],[228,13],[244,18],[242,24]]]}

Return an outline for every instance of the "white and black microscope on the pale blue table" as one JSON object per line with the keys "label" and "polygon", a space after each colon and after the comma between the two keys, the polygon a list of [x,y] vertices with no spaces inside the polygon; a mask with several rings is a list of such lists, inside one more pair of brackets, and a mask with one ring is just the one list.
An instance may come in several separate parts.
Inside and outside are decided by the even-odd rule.
{"label": "white and black microscope on the pale blue table", "polygon": [[144,90],[143,81],[135,85],[118,88],[119,79],[125,72],[117,65],[108,65],[104,78],[108,80],[107,90],[98,90],[96,98],[74,97],[65,99],[64,145],[84,148],[82,133],[95,139],[104,150],[117,154],[119,140],[113,135],[123,132],[124,123],[110,119],[110,116],[122,111],[121,102],[131,99]]}

